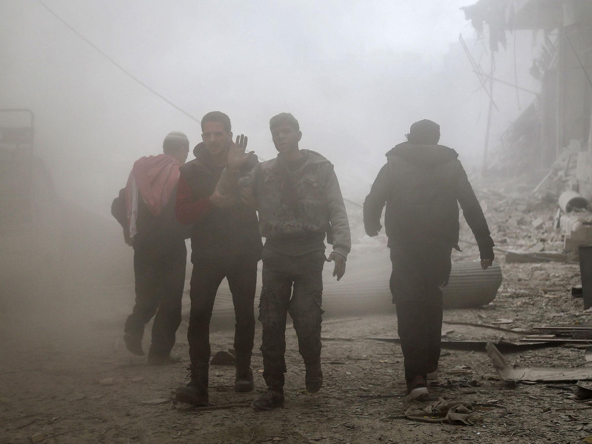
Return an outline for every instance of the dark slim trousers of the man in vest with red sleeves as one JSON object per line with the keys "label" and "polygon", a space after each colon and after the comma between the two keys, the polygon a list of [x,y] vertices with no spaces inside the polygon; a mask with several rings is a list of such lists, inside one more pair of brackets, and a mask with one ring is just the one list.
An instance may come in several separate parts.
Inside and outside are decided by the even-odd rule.
{"label": "dark slim trousers of the man in vest with red sleeves", "polygon": [[250,363],[255,338],[253,302],[257,284],[255,255],[199,256],[194,258],[191,274],[191,314],[187,340],[193,365],[210,362],[210,318],[218,287],[227,279],[234,304],[234,350],[237,363]]}

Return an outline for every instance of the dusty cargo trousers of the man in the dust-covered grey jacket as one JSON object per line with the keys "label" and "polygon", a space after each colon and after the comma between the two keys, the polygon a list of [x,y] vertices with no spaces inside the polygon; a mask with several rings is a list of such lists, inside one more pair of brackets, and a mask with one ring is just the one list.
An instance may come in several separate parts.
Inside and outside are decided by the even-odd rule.
{"label": "dusty cargo trousers of the man in the dust-covered grey jacket", "polygon": [[284,387],[288,313],[294,321],[304,363],[320,361],[324,262],[321,250],[287,256],[263,249],[259,320],[263,324],[263,378],[270,387]]}

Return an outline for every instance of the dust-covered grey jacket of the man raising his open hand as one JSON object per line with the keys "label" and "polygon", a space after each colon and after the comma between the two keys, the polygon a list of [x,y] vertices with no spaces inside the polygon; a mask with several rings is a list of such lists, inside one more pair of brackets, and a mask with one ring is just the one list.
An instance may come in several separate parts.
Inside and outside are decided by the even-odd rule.
{"label": "dust-covered grey jacket of the man raising his open hand", "polygon": [[265,247],[276,253],[300,256],[324,250],[347,258],[352,246],[348,215],[333,165],[320,154],[300,150],[303,159],[288,163],[281,155],[255,166],[243,178],[224,169],[218,190],[230,194],[240,186],[253,189],[258,202],[259,232]]}

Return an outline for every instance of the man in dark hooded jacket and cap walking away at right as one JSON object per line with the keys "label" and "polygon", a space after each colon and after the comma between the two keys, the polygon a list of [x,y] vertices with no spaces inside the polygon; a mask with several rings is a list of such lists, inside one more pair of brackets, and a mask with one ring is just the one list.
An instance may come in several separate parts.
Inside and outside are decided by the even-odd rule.
{"label": "man in dark hooded jacket and cap walking away at right", "polygon": [[448,284],[452,249],[459,250],[457,202],[477,239],[482,268],[494,259],[487,221],[458,154],[437,144],[439,140],[439,125],[430,120],[414,123],[407,141],[387,153],[363,208],[366,233],[377,236],[387,205],[390,287],[413,399],[427,397],[426,379],[435,377],[440,358],[440,287]]}

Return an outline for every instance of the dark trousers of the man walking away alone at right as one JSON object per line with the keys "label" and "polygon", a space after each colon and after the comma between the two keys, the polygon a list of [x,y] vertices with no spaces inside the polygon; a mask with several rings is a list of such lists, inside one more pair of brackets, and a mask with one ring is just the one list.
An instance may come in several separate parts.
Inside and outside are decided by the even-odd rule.
{"label": "dark trousers of the man walking away alone at right", "polygon": [[391,248],[390,287],[397,304],[405,379],[425,378],[440,359],[442,289],[451,271],[451,249]]}

